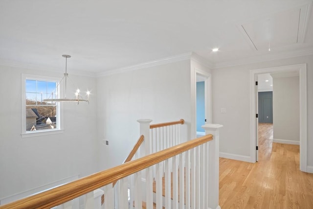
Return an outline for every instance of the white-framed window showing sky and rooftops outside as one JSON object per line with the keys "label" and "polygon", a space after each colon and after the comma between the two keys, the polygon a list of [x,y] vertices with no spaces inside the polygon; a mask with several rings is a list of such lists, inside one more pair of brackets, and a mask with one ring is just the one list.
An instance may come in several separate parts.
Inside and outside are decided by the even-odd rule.
{"label": "white-framed window showing sky and rooftops outside", "polygon": [[22,136],[61,130],[60,104],[44,101],[58,98],[58,83],[58,78],[22,74]]}

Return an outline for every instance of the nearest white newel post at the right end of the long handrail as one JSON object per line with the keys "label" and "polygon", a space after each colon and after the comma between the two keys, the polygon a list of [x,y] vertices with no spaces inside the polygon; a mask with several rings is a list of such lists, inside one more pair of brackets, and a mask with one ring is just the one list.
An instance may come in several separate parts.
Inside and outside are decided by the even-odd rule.
{"label": "nearest white newel post at the right end of the long handrail", "polygon": [[209,144],[209,208],[220,209],[219,206],[219,156],[220,156],[220,124],[205,124],[201,126],[205,134],[212,134],[213,140]]}

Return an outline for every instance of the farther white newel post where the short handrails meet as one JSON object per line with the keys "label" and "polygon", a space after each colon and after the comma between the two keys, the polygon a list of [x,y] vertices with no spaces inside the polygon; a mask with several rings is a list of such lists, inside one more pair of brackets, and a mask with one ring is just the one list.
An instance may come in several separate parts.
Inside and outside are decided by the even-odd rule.
{"label": "farther white newel post where the short handrails meet", "polygon": [[152,122],[152,119],[138,119],[137,122],[140,124],[140,136],[144,136],[143,144],[144,149],[140,149],[140,157],[143,157],[145,155],[149,155],[150,153],[150,123]]}

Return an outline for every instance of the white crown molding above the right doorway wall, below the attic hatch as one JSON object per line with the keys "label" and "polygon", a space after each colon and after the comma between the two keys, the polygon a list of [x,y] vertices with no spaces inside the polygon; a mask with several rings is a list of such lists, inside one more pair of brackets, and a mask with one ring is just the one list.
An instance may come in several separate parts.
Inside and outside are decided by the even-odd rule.
{"label": "white crown molding above the right doorway wall, below the attic hatch", "polygon": [[293,57],[302,57],[302,56],[307,56],[307,55],[313,55],[313,47],[306,47],[306,48],[292,50],[292,51],[290,50],[290,51],[284,51],[284,52],[277,52],[275,54],[271,52],[268,54],[255,55],[253,57],[246,57],[246,58],[237,59],[237,60],[219,62],[219,63],[216,63],[212,69],[226,68],[226,67],[239,66],[239,65],[252,64],[252,63],[260,63],[260,62],[287,59],[287,58],[293,58]]}

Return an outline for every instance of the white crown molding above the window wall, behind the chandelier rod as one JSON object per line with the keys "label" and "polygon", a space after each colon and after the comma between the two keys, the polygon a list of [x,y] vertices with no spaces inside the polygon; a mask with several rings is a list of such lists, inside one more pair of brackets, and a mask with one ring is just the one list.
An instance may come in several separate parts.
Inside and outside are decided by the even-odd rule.
{"label": "white crown molding above the window wall, behind the chandelier rod", "polygon": [[[32,65],[32,64],[25,64],[21,62],[16,62],[12,60],[4,60],[0,59],[0,66],[7,66],[12,68],[22,68],[22,69],[28,69],[28,70],[41,70],[41,71],[47,71],[47,72],[53,72],[53,73],[64,73],[64,69],[60,70],[59,68],[53,68],[53,67],[42,67],[38,65]],[[78,75],[78,76],[85,76],[85,77],[96,77],[96,74],[93,72],[87,72],[87,71],[80,71],[75,70],[74,72],[70,72],[71,75]]]}

